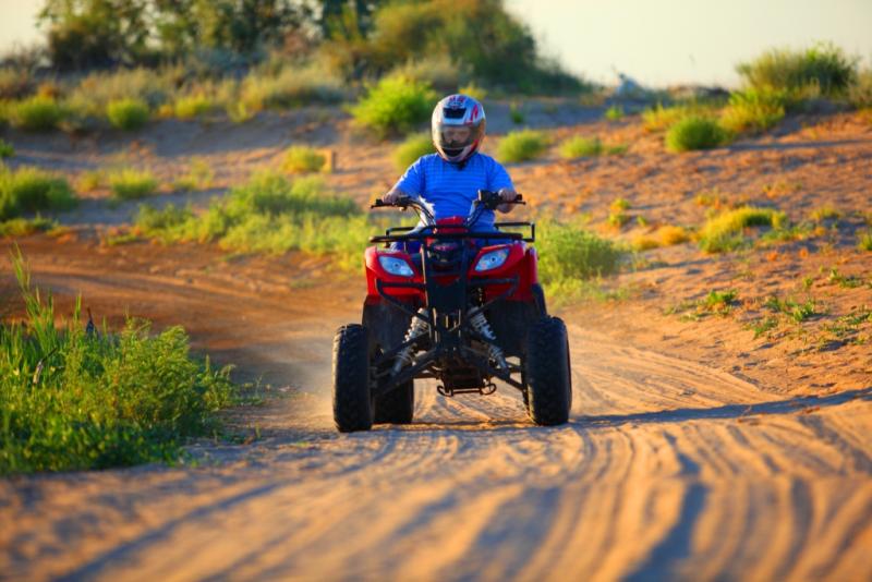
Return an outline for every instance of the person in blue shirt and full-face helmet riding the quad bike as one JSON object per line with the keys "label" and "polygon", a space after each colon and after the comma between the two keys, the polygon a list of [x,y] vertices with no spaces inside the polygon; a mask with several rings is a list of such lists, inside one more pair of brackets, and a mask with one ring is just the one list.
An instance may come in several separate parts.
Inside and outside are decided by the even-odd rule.
{"label": "person in blue shirt and full-face helmet riding the quad bike", "polygon": [[[431,120],[437,154],[417,159],[382,198],[395,204],[401,196],[423,202],[436,220],[468,216],[480,190],[499,192],[512,202],[518,193],[506,169],[479,151],[484,141],[484,107],[468,95],[449,95],[436,105]],[[508,213],[511,204],[498,209]],[[494,213],[485,210],[474,230],[494,230]]]}

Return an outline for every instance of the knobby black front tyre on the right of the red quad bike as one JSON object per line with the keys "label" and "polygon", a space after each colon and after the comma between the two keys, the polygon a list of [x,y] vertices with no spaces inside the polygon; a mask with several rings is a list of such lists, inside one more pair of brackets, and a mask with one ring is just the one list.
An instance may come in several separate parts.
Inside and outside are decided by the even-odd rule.
{"label": "knobby black front tyre on the right of the red quad bike", "polygon": [[543,317],[526,337],[528,413],[542,426],[564,424],[572,405],[572,377],[566,326],[558,317]]}

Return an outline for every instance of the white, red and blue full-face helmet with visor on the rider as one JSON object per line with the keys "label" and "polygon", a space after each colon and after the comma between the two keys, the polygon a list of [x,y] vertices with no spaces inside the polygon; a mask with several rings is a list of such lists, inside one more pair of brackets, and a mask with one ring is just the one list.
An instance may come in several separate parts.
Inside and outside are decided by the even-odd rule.
{"label": "white, red and blue full-face helmet with visor on the rider", "polygon": [[484,107],[468,95],[449,95],[433,110],[433,145],[445,161],[469,159],[484,141]]}

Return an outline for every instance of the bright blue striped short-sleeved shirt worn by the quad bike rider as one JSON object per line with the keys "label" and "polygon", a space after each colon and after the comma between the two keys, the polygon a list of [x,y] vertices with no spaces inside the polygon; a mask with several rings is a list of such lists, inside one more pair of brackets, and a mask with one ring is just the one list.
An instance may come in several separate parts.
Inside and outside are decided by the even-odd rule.
{"label": "bright blue striped short-sleeved shirt worn by the quad bike rider", "polygon": [[[429,206],[434,218],[468,217],[480,190],[512,189],[506,169],[491,156],[475,153],[462,167],[431,154],[419,158],[397,181],[393,190],[416,197]],[[476,230],[492,230],[493,210],[482,213]]]}

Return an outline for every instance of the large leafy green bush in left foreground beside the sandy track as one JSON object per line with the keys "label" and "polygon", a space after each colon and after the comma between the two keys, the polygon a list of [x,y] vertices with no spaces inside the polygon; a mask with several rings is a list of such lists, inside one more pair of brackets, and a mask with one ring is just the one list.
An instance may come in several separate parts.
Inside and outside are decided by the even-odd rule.
{"label": "large leafy green bush in left foreground beside the sandy track", "polygon": [[0,474],[172,461],[186,437],[219,428],[230,371],[193,360],[182,328],[86,331],[81,302],[56,326],[20,256],[15,269],[27,318],[0,325]]}

